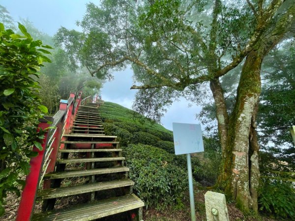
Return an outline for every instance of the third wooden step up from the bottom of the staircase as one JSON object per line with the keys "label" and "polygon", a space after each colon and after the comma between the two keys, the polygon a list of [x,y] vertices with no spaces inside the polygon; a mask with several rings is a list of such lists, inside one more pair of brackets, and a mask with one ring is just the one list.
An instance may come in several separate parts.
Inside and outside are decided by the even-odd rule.
{"label": "third wooden step up from the bottom of the staircase", "polygon": [[44,179],[61,179],[77,176],[89,176],[96,174],[106,174],[106,173],[118,173],[129,171],[128,167],[119,166],[116,168],[99,168],[99,169],[89,169],[89,170],[75,170],[75,171],[64,171],[64,172],[53,172],[44,175]]}

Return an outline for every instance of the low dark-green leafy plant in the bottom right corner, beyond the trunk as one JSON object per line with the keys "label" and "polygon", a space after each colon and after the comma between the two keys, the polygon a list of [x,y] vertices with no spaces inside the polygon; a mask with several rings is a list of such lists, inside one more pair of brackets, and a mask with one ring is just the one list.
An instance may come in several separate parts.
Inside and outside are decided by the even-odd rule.
{"label": "low dark-green leafy plant in the bottom right corner, beyond the trunk", "polygon": [[292,183],[263,179],[259,210],[276,217],[295,219],[295,189]]}

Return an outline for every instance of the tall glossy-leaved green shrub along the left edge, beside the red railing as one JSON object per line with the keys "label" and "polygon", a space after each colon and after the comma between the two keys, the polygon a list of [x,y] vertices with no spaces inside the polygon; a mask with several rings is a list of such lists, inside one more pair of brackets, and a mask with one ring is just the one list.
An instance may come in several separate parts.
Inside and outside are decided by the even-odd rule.
{"label": "tall glossy-leaved green shrub along the left edge, beside the red railing", "polygon": [[31,146],[37,142],[38,119],[47,108],[41,105],[39,86],[32,76],[39,77],[45,54],[50,46],[33,40],[19,24],[22,35],[4,28],[0,23],[0,215],[6,193],[19,194],[18,184],[24,185],[21,174],[29,173],[28,159],[36,156]]}

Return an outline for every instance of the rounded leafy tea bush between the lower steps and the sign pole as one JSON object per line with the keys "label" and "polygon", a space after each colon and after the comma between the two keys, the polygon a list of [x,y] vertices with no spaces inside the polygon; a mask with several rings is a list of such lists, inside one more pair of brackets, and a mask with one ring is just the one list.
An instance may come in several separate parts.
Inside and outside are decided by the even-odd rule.
{"label": "rounded leafy tea bush between the lower steps and the sign pole", "polygon": [[135,182],[134,190],[147,207],[183,206],[187,173],[173,164],[172,154],[150,145],[131,144],[123,148],[123,155],[130,168],[129,176]]}

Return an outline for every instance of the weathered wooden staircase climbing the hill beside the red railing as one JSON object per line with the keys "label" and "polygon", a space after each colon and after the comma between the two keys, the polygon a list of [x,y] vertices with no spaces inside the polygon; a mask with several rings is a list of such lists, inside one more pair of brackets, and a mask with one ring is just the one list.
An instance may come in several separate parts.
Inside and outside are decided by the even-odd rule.
{"label": "weathered wooden staircase climbing the hill beside the red railing", "polygon": [[[33,214],[31,220],[90,221],[108,217],[108,221],[142,221],[144,202],[132,193],[134,182],[127,178],[129,168],[124,166],[117,137],[106,136],[101,122],[97,103],[79,107],[70,133],[62,136],[64,147],[59,149],[56,170],[44,175],[48,189],[37,193],[37,198],[43,200],[43,212]],[[75,179],[80,184],[73,184]],[[57,199],[75,195],[86,202],[55,209]]]}

